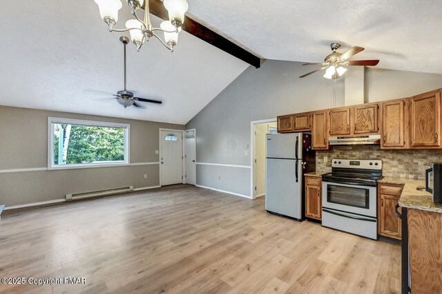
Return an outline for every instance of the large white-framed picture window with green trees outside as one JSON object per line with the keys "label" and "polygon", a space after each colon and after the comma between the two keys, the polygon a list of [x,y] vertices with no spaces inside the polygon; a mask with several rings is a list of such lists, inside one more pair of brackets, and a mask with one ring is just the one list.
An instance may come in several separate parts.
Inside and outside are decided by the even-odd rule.
{"label": "large white-framed picture window with green trees outside", "polygon": [[48,168],[128,165],[129,129],[121,123],[48,118]]}

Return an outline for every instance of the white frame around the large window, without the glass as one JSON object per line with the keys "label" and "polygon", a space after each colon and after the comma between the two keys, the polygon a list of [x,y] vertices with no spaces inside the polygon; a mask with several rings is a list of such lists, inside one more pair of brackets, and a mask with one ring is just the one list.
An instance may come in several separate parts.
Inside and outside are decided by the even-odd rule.
{"label": "white frame around the large window, without the glass", "polygon": [[[71,124],[71,125],[85,125],[92,127],[118,127],[125,129],[124,131],[124,162],[103,162],[103,163],[85,163],[77,165],[54,165],[54,128],[53,123]],[[122,167],[131,164],[131,125],[128,123],[110,123],[95,120],[78,120],[71,118],[55,118],[48,117],[48,169],[87,169],[94,167]]]}

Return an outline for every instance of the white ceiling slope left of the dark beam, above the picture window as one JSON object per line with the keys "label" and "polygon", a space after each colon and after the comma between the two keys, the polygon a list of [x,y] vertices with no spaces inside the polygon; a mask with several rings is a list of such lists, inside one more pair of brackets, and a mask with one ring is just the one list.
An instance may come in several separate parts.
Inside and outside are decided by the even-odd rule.
{"label": "white ceiling slope left of the dark beam, above the picture window", "polygon": [[129,44],[128,90],[164,103],[124,109],[111,98],[124,87],[121,34],[93,0],[2,1],[0,28],[0,105],[185,124],[248,67],[186,32],[173,53]]}

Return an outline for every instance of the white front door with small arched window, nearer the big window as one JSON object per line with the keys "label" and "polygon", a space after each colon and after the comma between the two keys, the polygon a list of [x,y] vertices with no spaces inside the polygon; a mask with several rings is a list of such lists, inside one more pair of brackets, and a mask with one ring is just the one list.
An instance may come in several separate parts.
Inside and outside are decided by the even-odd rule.
{"label": "white front door with small arched window, nearer the big window", "polygon": [[161,131],[161,185],[182,183],[182,132]]}

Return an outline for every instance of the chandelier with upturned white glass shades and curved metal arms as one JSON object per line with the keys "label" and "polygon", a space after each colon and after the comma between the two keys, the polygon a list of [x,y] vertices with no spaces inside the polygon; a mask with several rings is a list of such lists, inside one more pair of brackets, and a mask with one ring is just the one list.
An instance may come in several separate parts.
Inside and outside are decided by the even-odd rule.
{"label": "chandelier with upturned white glass shades and curved metal arms", "polygon": [[[186,0],[164,0],[164,8],[169,12],[169,21],[163,21],[160,28],[153,28],[148,0],[126,0],[135,19],[126,21],[125,29],[115,29],[113,26],[117,23],[118,10],[122,8],[122,2],[120,0],[94,1],[98,5],[100,16],[108,25],[109,32],[129,32],[137,51],[140,51],[144,42],[149,41],[151,37],[155,37],[164,47],[173,52],[173,48],[178,42],[178,33],[181,31],[182,23],[184,23],[184,13],[189,8]],[[143,4],[144,20],[140,19],[137,14]],[[164,41],[155,33],[157,31],[164,32]]]}

